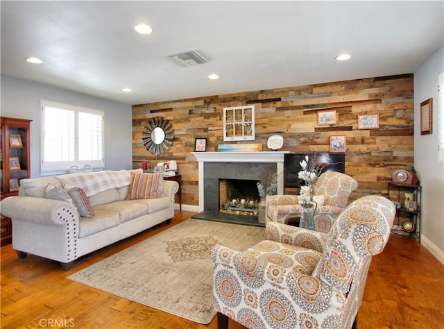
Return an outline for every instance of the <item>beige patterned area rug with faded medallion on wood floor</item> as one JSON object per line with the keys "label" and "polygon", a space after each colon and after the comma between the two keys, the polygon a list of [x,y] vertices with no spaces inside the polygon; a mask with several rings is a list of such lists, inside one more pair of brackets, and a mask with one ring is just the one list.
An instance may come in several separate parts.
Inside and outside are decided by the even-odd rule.
{"label": "beige patterned area rug with faded medallion on wood floor", "polygon": [[[198,226],[198,229],[192,228],[195,226]],[[182,233],[180,233],[181,231],[186,232],[187,230],[191,230],[192,232],[191,234],[187,233],[188,236],[184,236]],[[228,235],[230,235],[230,237],[217,236],[219,233],[223,234],[223,230],[228,230]],[[209,235],[208,233],[211,234]],[[229,239],[233,239],[233,234],[236,236],[246,235],[247,237],[250,235],[250,237],[246,240],[251,241],[242,242],[241,239],[237,237],[234,238],[235,242],[230,242]],[[123,251],[119,251],[119,253],[111,255],[104,260],[96,262],[85,269],[71,274],[67,278],[83,285],[93,287],[94,289],[107,292],[108,294],[113,294],[114,296],[126,298],[129,301],[140,303],[156,310],[173,314],[177,317],[182,317],[196,323],[207,324],[212,321],[214,315],[216,314],[212,304],[212,276],[207,271],[207,268],[210,267],[212,273],[210,249],[212,246],[214,246],[214,244],[223,244],[225,246],[229,246],[230,248],[243,250],[262,239],[264,239],[264,228],[191,218],[187,219],[186,221],[182,221],[182,223],[178,223],[177,225],[168,228],[167,230],[164,230],[153,237],[149,237],[142,242],[130,246]],[[233,246],[233,244],[235,245],[239,243],[240,247]],[[167,258],[171,258],[171,262],[168,262],[167,264],[166,260],[162,260],[162,255],[160,255],[162,251],[157,253],[157,255],[160,255],[159,259],[157,259],[157,255],[153,254],[154,252],[151,252],[148,255],[144,254],[143,252],[138,252],[139,250],[144,251],[149,249],[151,244],[157,246],[158,248],[162,248],[161,245],[163,244],[164,253],[165,255],[169,256]],[[165,258],[165,255],[163,255],[163,258]],[[152,261],[149,261],[150,258],[152,258]],[[137,259],[141,261],[138,262]],[[128,264],[125,264],[125,262],[128,262]],[[162,269],[158,269],[156,265],[159,267],[164,266],[164,271],[167,272],[162,273]],[[123,271],[119,271],[117,269],[118,266],[128,269],[128,273],[126,273],[126,276],[123,276],[123,278],[121,278]],[[193,310],[189,310],[189,312],[184,311],[188,314],[180,312],[183,310],[182,308],[180,311],[175,310],[174,307],[176,305],[174,303],[173,305],[162,304],[162,302],[164,302],[162,301],[163,299],[168,299],[165,298],[164,295],[166,294],[167,296],[171,296],[173,292],[158,292],[157,289],[160,289],[160,287],[153,288],[150,285],[146,285],[146,281],[140,281],[141,278],[139,277],[143,276],[144,273],[155,272],[152,274],[153,281],[155,281],[157,275],[164,275],[165,278],[167,278],[168,275],[171,275],[171,271],[174,271],[175,269],[178,270],[182,266],[187,266],[190,272],[189,275],[191,276],[196,276],[196,273],[192,273],[193,269],[199,269],[198,272],[204,272],[204,274],[205,271],[207,271],[207,274],[210,274],[211,280],[210,282],[207,276],[205,276],[205,280],[199,282],[199,287],[196,287],[194,292],[187,294],[187,290],[185,289],[183,296],[178,296],[179,300],[187,300],[189,301],[189,305],[192,306]],[[202,269],[205,269],[205,271]],[[117,271],[115,276],[112,271]],[[189,281],[186,279],[187,276],[184,275],[187,272],[181,271],[180,273],[180,278],[184,279],[180,286],[187,287]],[[172,275],[177,279],[177,275]],[[134,276],[137,276],[137,278],[134,278]],[[135,282],[132,282],[132,278]],[[137,282],[137,279],[139,279],[139,282]],[[105,282],[103,282],[103,280],[105,280]],[[169,290],[169,283],[166,282],[166,280],[167,279],[164,280],[162,287],[164,291]],[[207,281],[207,283],[202,283],[205,281]],[[157,282],[156,286],[161,284],[162,283]],[[117,287],[119,285],[123,285],[123,287]],[[191,289],[191,287],[189,288]],[[208,289],[210,289],[210,291],[208,291]],[[144,291],[146,291],[146,293]],[[196,294],[199,293],[200,296],[196,296]],[[155,298],[152,298],[150,294],[157,296],[159,299],[156,300]],[[205,300],[205,297],[206,301],[203,301]]]}

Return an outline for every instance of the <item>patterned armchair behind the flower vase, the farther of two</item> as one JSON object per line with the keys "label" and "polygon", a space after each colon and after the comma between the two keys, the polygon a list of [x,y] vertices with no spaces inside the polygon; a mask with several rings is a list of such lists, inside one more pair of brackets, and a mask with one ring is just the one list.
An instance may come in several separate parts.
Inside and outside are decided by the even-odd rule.
{"label": "patterned armchair behind the flower vase, the farther of two", "polygon": [[[318,200],[318,207],[314,212],[316,231],[323,233],[330,231],[332,223],[347,206],[348,197],[357,187],[355,178],[348,175],[336,171],[321,174],[314,192],[314,199]],[[265,212],[266,222],[288,223],[289,217],[300,215],[302,209],[298,204],[298,196],[272,195],[266,196]]]}

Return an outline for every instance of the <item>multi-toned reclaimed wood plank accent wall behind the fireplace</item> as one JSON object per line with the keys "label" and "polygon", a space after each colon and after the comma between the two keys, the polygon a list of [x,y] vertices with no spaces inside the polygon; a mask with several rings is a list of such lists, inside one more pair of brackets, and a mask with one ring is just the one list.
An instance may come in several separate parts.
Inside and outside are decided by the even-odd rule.
{"label": "multi-toned reclaimed wood plank accent wall behind the fireplace", "polygon": [[[194,139],[206,137],[207,151],[217,151],[224,144],[223,108],[245,105],[255,105],[254,142],[262,143],[264,151],[274,134],[284,137],[281,151],[295,153],[328,152],[330,135],[345,135],[345,174],[359,182],[352,199],[386,195],[393,171],[413,166],[413,74],[404,74],[135,105],[133,168],[144,161],[153,168],[176,160],[182,203],[198,205]],[[336,124],[318,125],[319,110],[336,110]],[[379,128],[358,129],[357,117],[363,114],[379,114]],[[142,144],[144,124],[156,116],[168,119],[174,129],[173,146],[162,156],[151,155]]]}

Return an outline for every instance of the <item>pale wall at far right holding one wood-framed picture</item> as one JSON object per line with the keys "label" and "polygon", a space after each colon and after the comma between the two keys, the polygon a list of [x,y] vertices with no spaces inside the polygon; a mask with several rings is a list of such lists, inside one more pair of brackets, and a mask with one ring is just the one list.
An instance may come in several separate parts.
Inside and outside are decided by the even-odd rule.
{"label": "pale wall at far right holding one wood-framed picture", "polygon": [[[444,165],[438,162],[438,75],[444,47],[414,72],[415,169],[422,185],[421,243],[444,264]],[[420,135],[420,103],[433,98],[432,134]]]}

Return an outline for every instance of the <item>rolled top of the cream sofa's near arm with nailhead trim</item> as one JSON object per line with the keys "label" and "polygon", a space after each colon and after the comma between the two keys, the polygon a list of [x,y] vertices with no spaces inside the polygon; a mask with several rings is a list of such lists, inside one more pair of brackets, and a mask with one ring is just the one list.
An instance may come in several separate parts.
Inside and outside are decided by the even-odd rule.
{"label": "rolled top of the cream sofa's near arm with nailhead trim", "polygon": [[60,226],[65,225],[67,221],[78,224],[76,208],[65,201],[33,196],[10,196],[1,201],[0,207],[1,214],[20,221]]}

